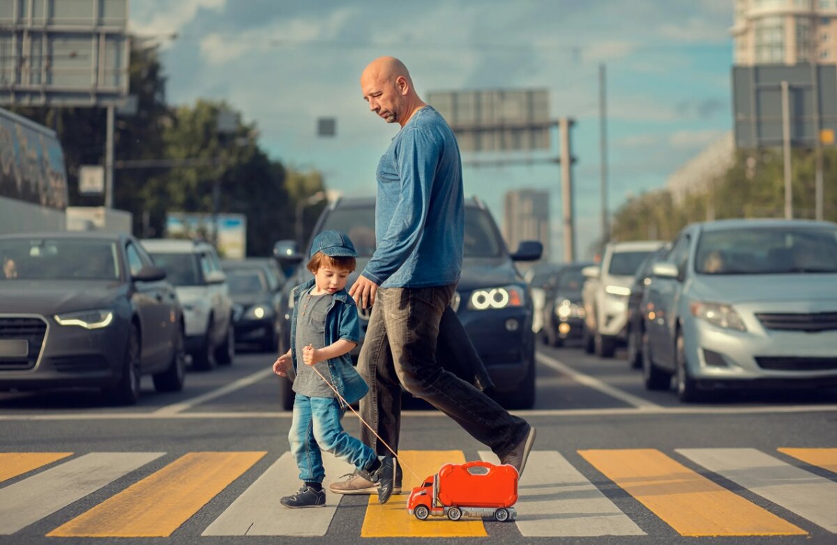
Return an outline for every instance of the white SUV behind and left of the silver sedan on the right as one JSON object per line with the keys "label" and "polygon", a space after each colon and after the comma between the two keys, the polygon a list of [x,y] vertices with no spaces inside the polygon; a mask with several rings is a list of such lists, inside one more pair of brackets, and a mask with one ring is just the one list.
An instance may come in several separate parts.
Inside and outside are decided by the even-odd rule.
{"label": "white SUV behind and left of the silver sedan on the right", "polygon": [[660,241],[611,242],[604,248],[601,266],[585,267],[582,288],[584,329],[582,343],[588,354],[613,358],[627,339],[628,297],[639,265],[663,245]]}

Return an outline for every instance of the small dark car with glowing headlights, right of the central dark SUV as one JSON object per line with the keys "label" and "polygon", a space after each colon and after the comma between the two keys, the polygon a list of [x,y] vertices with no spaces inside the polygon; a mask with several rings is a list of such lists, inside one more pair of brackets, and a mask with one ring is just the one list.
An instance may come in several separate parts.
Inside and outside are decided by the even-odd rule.
{"label": "small dark car with glowing headlights, right of the central dark SUV", "polygon": [[565,265],[547,288],[543,305],[544,343],[561,346],[567,339],[581,339],[584,325],[581,270],[589,265],[593,262]]}

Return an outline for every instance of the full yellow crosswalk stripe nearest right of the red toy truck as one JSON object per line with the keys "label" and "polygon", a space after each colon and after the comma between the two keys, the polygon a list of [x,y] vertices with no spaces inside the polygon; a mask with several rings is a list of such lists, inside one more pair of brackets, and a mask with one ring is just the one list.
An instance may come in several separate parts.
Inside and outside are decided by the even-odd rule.
{"label": "full yellow crosswalk stripe nearest right of the red toy truck", "polygon": [[683,536],[774,536],[804,530],[655,449],[578,451]]}

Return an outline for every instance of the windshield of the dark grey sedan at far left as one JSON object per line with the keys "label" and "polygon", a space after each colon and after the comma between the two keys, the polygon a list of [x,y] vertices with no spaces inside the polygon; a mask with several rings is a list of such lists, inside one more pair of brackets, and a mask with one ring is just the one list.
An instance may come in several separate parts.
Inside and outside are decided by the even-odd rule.
{"label": "windshield of the dark grey sedan at far left", "polygon": [[0,280],[37,278],[117,280],[116,243],[77,238],[0,241]]}

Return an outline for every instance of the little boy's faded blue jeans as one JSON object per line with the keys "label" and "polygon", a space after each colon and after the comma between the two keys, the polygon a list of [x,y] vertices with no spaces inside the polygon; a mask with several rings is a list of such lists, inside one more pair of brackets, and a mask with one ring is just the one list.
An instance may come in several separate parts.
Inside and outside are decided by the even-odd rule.
{"label": "little boy's faded blue jeans", "polygon": [[377,458],[375,451],[343,430],[340,420],[345,412],[336,398],[296,395],[288,441],[300,468],[300,481],[321,483],[326,476],[320,449],[357,469],[365,469]]}

